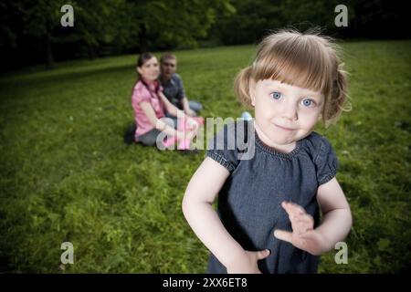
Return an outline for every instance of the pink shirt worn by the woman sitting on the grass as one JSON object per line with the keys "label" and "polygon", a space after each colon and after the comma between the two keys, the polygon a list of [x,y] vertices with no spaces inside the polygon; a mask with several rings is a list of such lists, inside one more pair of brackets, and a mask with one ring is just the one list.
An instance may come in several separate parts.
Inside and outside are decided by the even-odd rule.
{"label": "pink shirt worn by the woman sitting on the grass", "polygon": [[[163,101],[157,95],[157,92],[155,92],[155,87],[158,85],[157,82],[158,81],[147,83],[147,86],[151,92],[144,86],[141,80],[137,82],[132,90],[132,108],[134,109],[134,120],[137,125],[135,137],[141,136],[142,134],[154,129],[154,126],[142,111],[142,107],[140,106],[142,101],[147,101],[152,105],[155,116],[158,119],[164,117]],[[161,86],[159,86],[159,91],[163,91]]]}

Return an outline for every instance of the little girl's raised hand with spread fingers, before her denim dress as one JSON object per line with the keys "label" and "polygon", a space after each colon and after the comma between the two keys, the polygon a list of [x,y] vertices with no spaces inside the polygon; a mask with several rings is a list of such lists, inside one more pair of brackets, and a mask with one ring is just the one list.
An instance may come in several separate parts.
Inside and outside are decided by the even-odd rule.
{"label": "little girl's raised hand with spread fingers, before her denim dress", "polygon": [[274,231],[274,236],[289,242],[311,255],[321,255],[324,252],[324,239],[314,228],[314,219],[296,203],[282,202],[281,206],[289,214],[292,232]]}

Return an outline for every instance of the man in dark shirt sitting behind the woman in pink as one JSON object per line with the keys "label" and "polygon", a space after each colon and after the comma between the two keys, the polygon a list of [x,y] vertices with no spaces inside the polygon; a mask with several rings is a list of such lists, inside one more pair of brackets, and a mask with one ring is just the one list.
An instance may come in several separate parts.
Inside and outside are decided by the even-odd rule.
{"label": "man in dark shirt sitting behind the woman in pink", "polygon": [[160,60],[160,82],[163,86],[163,94],[174,106],[189,116],[196,116],[198,111],[203,110],[201,103],[185,97],[183,80],[175,73],[177,69],[177,58],[172,54],[164,54]]}

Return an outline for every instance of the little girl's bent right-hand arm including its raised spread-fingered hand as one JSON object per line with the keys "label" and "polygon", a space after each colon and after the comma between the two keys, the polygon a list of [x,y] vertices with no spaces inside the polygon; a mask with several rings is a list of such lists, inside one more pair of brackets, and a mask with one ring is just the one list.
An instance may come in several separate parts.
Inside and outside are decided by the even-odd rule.
{"label": "little girl's bent right-hand arm including its raised spread-fingered hand", "polygon": [[323,220],[313,229],[314,220],[298,204],[283,202],[281,205],[289,214],[292,232],[276,230],[274,235],[312,255],[321,255],[334,248],[350,232],[353,218],[350,206],[337,179],[321,184],[317,191]]}

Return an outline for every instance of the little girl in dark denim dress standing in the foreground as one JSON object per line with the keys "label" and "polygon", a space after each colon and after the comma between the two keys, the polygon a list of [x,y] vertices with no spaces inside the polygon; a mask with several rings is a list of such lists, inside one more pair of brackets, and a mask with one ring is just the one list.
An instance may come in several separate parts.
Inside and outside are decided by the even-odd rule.
{"label": "little girl in dark denim dress standing in the foreground", "polygon": [[[187,222],[212,253],[207,272],[316,273],[319,255],[352,225],[332,146],[312,131],[320,118],[335,120],[347,97],[335,46],[317,34],[279,31],[262,41],[235,87],[255,120],[225,125],[214,141],[224,149],[207,151],[183,200]],[[240,122],[254,130],[248,160],[227,147]]]}

